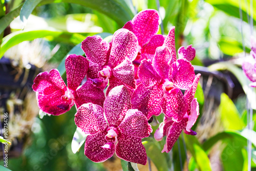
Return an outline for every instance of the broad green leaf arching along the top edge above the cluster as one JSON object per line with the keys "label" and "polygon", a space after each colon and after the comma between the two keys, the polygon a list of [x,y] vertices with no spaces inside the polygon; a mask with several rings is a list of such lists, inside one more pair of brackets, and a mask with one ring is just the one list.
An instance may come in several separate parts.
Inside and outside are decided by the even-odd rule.
{"label": "broad green leaf arching along the top edge above the cluster", "polygon": [[44,0],[39,5],[61,2],[79,4],[97,10],[114,19],[120,27],[135,15],[134,8],[132,8],[129,0]]}

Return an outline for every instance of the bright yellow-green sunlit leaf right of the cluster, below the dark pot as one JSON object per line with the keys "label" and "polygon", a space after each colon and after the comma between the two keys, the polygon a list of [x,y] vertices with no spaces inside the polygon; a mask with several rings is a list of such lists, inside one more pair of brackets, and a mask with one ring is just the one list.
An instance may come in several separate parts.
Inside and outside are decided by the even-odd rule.
{"label": "bright yellow-green sunlit leaf right of the cluster, below the dark pot", "polygon": [[236,105],[232,100],[225,94],[221,94],[221,104],[219,106],[219,112],[221,114],[221,120],[228,130],[242,130],[245,127],[244,122],[239,117],[239,112]]}

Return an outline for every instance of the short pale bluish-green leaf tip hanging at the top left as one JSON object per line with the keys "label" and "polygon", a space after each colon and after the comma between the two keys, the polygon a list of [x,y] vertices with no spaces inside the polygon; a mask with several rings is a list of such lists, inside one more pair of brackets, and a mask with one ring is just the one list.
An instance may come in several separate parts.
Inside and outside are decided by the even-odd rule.
{"label": "short pale bluish-green leaf tip hanging at the top left", "polygon": [[33,9],[41,2],[42,0],[26,0],[22,9],[20,9],[20,20],[26,24],[26,21],[29,15],[32,13]]}

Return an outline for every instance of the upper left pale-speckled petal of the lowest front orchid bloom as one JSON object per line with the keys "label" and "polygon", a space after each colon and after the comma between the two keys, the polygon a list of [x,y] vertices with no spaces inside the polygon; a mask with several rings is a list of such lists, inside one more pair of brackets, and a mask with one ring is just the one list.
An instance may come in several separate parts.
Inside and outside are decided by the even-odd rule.
{"label": "upper left pale-speckled petal of the lowest front orchid bloom", "polygon": [[108,124],[103,116],[101,106],[86,103],[82,104],[75,114],[75,123],[84,133],[94,135],[106,129]]}

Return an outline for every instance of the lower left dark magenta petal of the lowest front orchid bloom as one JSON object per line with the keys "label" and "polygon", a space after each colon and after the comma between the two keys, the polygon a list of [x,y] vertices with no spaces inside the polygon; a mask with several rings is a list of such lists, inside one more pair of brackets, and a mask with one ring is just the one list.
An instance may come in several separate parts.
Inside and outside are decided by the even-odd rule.
{"label": "lower left dark magenta petal of the lowest front orchid bloom", "polygon": [[86,155],[93,162],[103,162],[111,158],[115,153],[115,146],[110,145],[106,148],[104,145],[109,144],[105,140],[105,132],[100,132],[95,135],[87,136],[84,144],[84,155]]}

